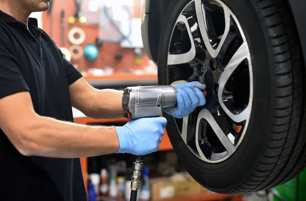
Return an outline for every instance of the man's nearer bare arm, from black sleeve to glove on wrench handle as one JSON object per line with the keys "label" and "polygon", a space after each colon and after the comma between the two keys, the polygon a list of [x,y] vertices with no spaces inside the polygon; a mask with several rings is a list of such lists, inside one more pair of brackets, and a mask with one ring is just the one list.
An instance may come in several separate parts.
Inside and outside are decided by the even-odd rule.
{"label": "man's nearer bare arm, from black sleeve to glove on wrench handle", "polygon": [[0,128],[23,155],[77,158],[119,149],[115,128],[39,116],[28,92],[0,99],[0,111]]}

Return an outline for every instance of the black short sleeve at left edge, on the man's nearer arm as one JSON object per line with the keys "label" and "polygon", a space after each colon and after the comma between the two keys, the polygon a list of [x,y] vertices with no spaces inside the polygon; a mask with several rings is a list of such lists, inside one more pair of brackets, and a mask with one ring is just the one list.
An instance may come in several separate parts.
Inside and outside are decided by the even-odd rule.
{"label": "black short sleeve at left edge, on the man's nearer arm", "polygon": [[[2,34],[3,35],[3,34]],[[30,91],[21,73],[16,51],[6,37],[0,38],[0,98]]]}

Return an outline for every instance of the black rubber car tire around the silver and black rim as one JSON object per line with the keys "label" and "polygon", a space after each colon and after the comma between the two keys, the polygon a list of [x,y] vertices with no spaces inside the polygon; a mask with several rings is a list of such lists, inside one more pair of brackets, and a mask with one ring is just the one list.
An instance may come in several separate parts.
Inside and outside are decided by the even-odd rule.
{"label": "black rubber car tire around the silver and black rim", "polygon": [[[190,2],[174,0],[167,9],[159,40],[159,85],[177,79],[169,73],[169,46],[176,20]],[[197,182],[213,192],[243,194],[281,185],[306,166],[305,66],[285,1],[222,2],[239,21],[252,62],[252,110],[241,144],[222,162],[203,161],[186,146],[177,119],[163,116],[175,153]]]}

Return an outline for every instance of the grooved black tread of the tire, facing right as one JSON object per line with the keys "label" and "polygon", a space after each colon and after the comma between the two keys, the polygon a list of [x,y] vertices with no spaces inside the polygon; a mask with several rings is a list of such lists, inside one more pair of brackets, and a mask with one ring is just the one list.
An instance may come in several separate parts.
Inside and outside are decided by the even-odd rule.
{"label": "grooved black tread of the tire, facing right", "polygon": [[283,0],[261,0],[254,4],[259,8],[271,41],[276,78],[275,113],[270,138],[257,167],[237,188],[226,191],[229,194],[272,188],[306,167],[304,69],[295,27]]}

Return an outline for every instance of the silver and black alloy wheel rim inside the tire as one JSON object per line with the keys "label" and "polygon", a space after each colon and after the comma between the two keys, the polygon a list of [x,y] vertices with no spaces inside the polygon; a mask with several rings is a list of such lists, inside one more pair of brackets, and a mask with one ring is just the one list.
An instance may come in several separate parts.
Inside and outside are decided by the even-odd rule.
{"label": "silver and black alloy wheel rim inside the tire", "polygon": [[247,130],[253,98],[248,43],[230,8],[219,0],[190,1],[172,31],[167,82],[199,81],[207,100],[189,116],[176,119],[189,150],[219,163],[237,150]]}

